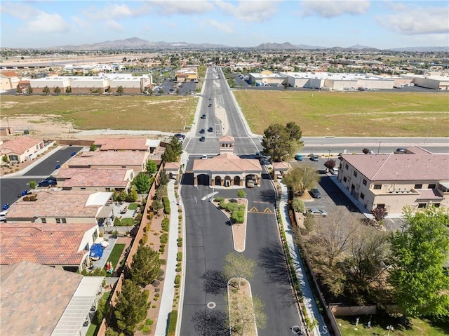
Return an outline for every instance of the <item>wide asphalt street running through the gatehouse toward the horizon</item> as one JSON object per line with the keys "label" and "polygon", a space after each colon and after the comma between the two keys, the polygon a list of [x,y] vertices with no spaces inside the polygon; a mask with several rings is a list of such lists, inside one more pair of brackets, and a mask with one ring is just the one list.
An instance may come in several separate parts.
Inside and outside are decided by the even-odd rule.
{"label": "wide asphalt street running through the gatehouse toward the horizon", "polygon": [[[218,78],[221,77],[221,78]],[[209,100],[212,98],[212,100]],[[211,103],[210,101],[213,101]],[[213,104],[209,107],[209,104]],[[206,114],[206,119],[199,119],[194,137],[187,137],[185,150],[189,154],[218,154],[218,137],[206,134],[206,142],[199,141],[199,130],[208,127],[216,129],[220,121],[215,118],[215,104],[226,109],[228,131],[226,135],[236,138],[235,152],[241,156],[254,155],[260,149],[257,137],[250,137],[236,107],[235,100],[225,82],[220,69],[209,68],[203,91],[203,100],[199,115]],[[255,145],[257,144],[257,146]],[[189,156],[186,171],[192,170],[195,155]],[[235,198],[238,189],[215,189],[217,196]],[[264,302],[264,313],[267,315],[267,328],[259,329],[259,335],[292,335],[293,325],[300,325],[295,300],[290,287],[283,260],[279,231],[274,214],[275,194],[272,182],[267,173],[262,175],[261,186],[244,189],[247,193],[248,227],[246,236],[246,257],[257,262],[255,277],[250,280],[253,295]],[[196,335],[192,321],[199,311],[210,311],[209,302],[214,302],[216,311],[227,311],[225,303],[226,279],[222,275],[225,256],[234,251],[232,229],[227,217],[209,202],[208,186],[193,186],[192,174],[185,174],[182,180],[181,196],[185,208],[186,220],[186,278],[185,296],[182,308],[181,335]],[[227,335],[228,330],[216,330],[210,335]],[[214,334],[215,332],[215,334]]]}

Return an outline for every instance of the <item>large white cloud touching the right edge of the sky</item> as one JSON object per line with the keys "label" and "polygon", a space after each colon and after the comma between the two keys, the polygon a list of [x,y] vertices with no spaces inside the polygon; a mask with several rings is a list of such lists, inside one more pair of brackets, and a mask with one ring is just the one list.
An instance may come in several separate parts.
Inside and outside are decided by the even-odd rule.
{"label": "large white cloud touching the right edge of the sky", "polygon": [[448,34],[448,8],[394,6],[397,13],[378,17],[380,25],[406,35]]}

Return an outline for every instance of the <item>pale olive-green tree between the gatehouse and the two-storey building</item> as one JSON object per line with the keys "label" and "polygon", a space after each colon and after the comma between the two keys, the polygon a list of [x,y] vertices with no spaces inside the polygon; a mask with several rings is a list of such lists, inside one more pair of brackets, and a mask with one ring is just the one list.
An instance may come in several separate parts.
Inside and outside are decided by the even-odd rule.
{"label": "pale olive-green tree between the gatehouse and the two-storey building", "polygon": [[296,166],[283,176],[283,182],[299,196],[302,196],[307,189],[315,187],[319,180],[320,176],[316,169],[308,163]]}

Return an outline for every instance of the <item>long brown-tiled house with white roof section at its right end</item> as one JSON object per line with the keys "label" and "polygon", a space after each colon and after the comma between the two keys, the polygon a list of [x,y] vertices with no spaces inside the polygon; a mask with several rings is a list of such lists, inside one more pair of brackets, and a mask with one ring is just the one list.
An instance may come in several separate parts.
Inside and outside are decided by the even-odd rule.
{"label": "long brown-tiled house with white roof section at its right end", "polygon": [[8,223],[102,224],[110,217],[112,192],[37,191],[11,205]]}

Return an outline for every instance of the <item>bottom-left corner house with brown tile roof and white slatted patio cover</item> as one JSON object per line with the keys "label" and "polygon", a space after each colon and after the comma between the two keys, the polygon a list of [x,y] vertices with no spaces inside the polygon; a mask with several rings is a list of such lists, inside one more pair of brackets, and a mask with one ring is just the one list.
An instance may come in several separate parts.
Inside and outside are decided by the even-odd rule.
{"label": "bottom-left corner house with brown tile roof and white slatted patio cover", "polygon": [[26,261],[2,266],[0,335],[86,335],[103,279]]}

